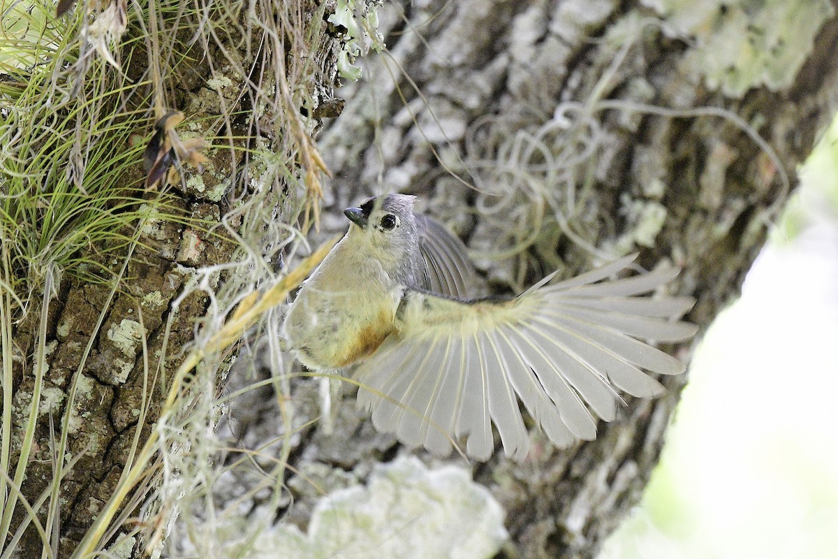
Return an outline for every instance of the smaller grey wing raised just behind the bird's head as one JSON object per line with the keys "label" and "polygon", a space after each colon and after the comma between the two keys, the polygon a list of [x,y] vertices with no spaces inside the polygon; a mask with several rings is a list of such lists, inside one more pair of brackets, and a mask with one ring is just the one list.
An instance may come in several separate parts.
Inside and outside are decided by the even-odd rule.
{"label": "smaller grey wing raised just behind the bird's head", "polygon": [[427,215],[416,215],[419,251],[427,264],[428,291],[464,299],[473,296],[475,272],[463,241]]}

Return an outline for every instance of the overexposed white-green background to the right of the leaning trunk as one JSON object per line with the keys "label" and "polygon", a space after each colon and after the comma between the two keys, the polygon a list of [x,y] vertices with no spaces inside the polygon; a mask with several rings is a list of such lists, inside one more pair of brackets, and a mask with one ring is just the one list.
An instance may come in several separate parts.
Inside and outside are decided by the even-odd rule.
{"label": "overexposed white-green background to the right of the leaning trunk", "polygon": [[600,559],[838,557],[838,121],[800,177]]}

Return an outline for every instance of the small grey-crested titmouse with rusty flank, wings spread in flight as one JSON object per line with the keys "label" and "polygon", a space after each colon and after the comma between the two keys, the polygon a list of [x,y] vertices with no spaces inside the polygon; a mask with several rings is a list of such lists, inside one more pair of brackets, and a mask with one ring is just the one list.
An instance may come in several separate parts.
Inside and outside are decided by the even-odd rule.
{"label": "small grey-crested titmouse with rusty flank, wings spread in flight", "polygon": [[437,454],[466,437],[469,457],[494,449],[491,423],[508,456],[530,439],[518,401],[558,447],[596,437],[591,411],[615,417],[620,396],[658,396],[644,373],[677,375],[685,366],[638,341],[683,341],[696,326],[676,322],[694,300],[638,296],[677,274],[673,267],[609,280],[625,256],[551,285],[547,277],[516,298],[466,298],[465,246],[427,216],[412,196],[367,199],[285,319],[297,358],[312,370],[360,363],[358,404],[375,427]]}

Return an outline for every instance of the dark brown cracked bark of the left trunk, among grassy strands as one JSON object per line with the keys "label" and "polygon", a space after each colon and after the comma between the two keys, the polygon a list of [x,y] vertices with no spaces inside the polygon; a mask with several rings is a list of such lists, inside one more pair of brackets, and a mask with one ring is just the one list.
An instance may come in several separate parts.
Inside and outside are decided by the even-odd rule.
{"label": "dark brown cracked bark of the left trunk, among grassy strands", "polygon": [[[190,120],[199,122],[200,135],[215,137],[218,134],[227,138],[220,142],[222,146],[229,142],[235,150],[220,148],[211,152],[205,165],[207,172],[197,183],[178,181],[171,185],[169,188],[174,190],[168,215],[147,220],[132,251],[123,248],[98,256],[102,249],[110,247],[90,246],[80,255],[80,258],[97,261],[113,277],[122,277],[118,286],[113,282],[85,282],[68,273],[57,287],[57,297],[52,298],[47,293],[44,301],[49,304],[48,368],[44,389],[37,401],[34,401],[33,391],[33,370],[36,368],[33,349],[38,343],[39,308],[29,309],[25,320],[13,332],[18,359],[13,378],[12,468],[17,467],[29,409],[33,405],[39,406],[34,448],[28,456],[27,474],[21,488],[23,498],[35,503],[44,490],[49,490],[56,461],[68,468],[70,460],[77,458],[61,483],[60,515],[56,520],[59,530],[48,526],[49,533],[59,537],[58,556],[69,557],[75,551],[103,505],[114,494],[137,429],[141,430],[137,442],[142,447],[148,432],[158,421],[173,370],[183,356],[184,346],[194,337],[196,320],[208,309],[209,299],[200,292],[178,299],[184,284],[194,277],[199,267],[235,261],[237,246],[223,232],[220,223],[231,207],[246,202],[258,189],[248,182],[247,165],[250,162],[242,155],[251,145],[247,142],[253,142],[253,145],[261,142],[261,146],[282,153],[282,137],[292,134],[280,126],[280,122],[287,122],[287,119],[278,115],[286,106],[277,102],[277,75],[272,73],[277,68],[277,59],[286,59],[278,65],[287,69],[284,80],[294,86],[298,80],[308,81],[308,91],[303,95],[295,91],[294,99],[310,103],[316,109],[321,101],[331,97],[342,35],[334,33],[334,29],[332,35],[323,34],[327,26],[321,18],[328,13],[324,16],[317,3],[302,1],[282,9],[271,3],[258,6],[253,3],[250,10],[233,4],[228,8],[225,17],[231,14],[234,17],[225,28],[214,29],[208,42],[187,40],[201,35],[196,31],[197,23],[184,20],[180,22],[183,28],[177,37],[157,37],[156,40],[164,49],[166,45],[172,46],[173,50],[163,53],[169,57],[167,60],[180,60],[186,56],[186,62],[178,65],[176,71],[163,75],[166,90],[163,98],[167,108],[184,111]],[[295,11],[297,28],[282,27],[283,23],[290,25],[288,19],[282,19],[287,18],[288,10]],[[215,8],[208,8],[207,13],[218,15]],[[132,13],[133,17],[136,15]],[[157,17],[156,13],[154,17]],[[248,19],[256,17],[260,18],[261,26],[256,25],[254,19]],[[282,36],[266,38],[261,34],[261,29],[272,28],[280,20],[278,28]],[[211,26],[212,23],[207,23],[203,30]],[[135,32],[145,33],[139,28],[135,28]],[[294,34],[297,36],[292,37]],[[310,42],[297,40],[300,38]],[[127,75],[132,78],[132,84],[142,85],[149,75],[150,44],[130,40],[136,39],[130,34],[125,39],[133,49],[130,57],[128,50],[123,53],[123,60],[131,60],[126,68]],[[293,52],[286,52],[283,47]],[[311,65],[312,60],[318,66]],[[163,61],[157,62],[166,67]],[[129,87],[127,91],[132,91]],[[147,88],[142,86],[142,91]],[[129,117],[142,119],[138,132],[147,132],[153,122],[144,118],[142,111],[150,107],[132,105],[137,103],[137,95],[125,96],[130,108],[137,111]],[[139,98],[142,101],[149,99],[143,95]],[[258,116],[256,110],[260,111]],[[211,128],[214,123],[218,126],[217,122],[224,122],[220,130]],[[314,129],[318,126],[313,122],[309,121],[309,124]],[[100,141],[108,141],[106,131]],[[288,161],[287,166],[298,170],[297,163],[292,161]],[[142,184],[143,180],[142,162],[137,161],[134,169],[124,177],[124,184]],[[195,187],[195,184],[199,186]],[[234,184],[232,189],[230,184]],[[282,197],[292,188],[282,180],[274,185],[275,192],[266,199],[276,206],[275,212],[281,207]],[[192,223],[199,222],[200,226],[183,225],[183,221],[178,221],[178,215],[184,220],[192,219]],[[238,223],[241,224],[241,220]],[[128,236],[131,234],[132,231],[127,231]],[[125,270],[120,272],[123,264]],[[220,281],[223,280],[222,275]],[[98,320],[103,309],[106,309],[105,318],[100,324]],[[144,370],[152,371],[151,377],[144,376]],[[75,397],[70,397],[71,391]],[[61,418],[67,401],[73,404],[70,422],[65,426]],[[141,416],[144,402],[151,402],[151,405]],[[142,417],[144,421],[140,422]],[[55,457],[56,441],[60,437],[56,433],[62,428],[68,432],[67,452],[63,457]],[[133,500],[123,512],[124,518],[135,517],[127,523],[126,531],[137,528],[137,506],[146,494],[143,491],[153,489],[153,485],[152,478],[150,484],[140,488],[138,500]],[[41,512],[44,511],[45,505]],[[25,515],[26,510],[18,506],[12,531]],[[39,515],[39,520],[44,523],[45,512]],[[151,525],[141,533],[153,532],[154,528]],[[11,537],[11,533],[3,537]],[[143,545],[137,543],[132,556],[142,556]],[[39,557],[43,548],[41,536],[30,525],[15,553],[19,557]],[[122,553],[125,553],[124,549]]]}

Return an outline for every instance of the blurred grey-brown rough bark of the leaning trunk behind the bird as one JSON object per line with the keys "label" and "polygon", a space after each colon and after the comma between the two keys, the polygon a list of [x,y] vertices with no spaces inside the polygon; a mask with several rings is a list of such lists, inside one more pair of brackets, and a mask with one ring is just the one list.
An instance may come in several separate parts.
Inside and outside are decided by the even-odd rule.
{"label": "blurred grey-brown rough bark of the leaning trunk behind the bird", "polygon": [[[697,298],[689,318],[706,328],[736,298],[788,199],[784,177],[835,110],[834,8],[815,1],[389,5],[381,18],[389,54],[367,60],[366,80],[339,91],[344,114],[321,137],[334,173],[332,213],[399,190],[419,194],[478,256],[508,251],[534,233],[513,257],[479,260],[495,285],[516,288],[555,267],[566,276],[582,272],[600,256],[640,251],[645,267],[669,258],[684,267],[673,288]],[[525,147],[539,138],[541,147],[512,157],[516,137]],[[557,173],[545,170],[547,158],[563,158]],[[475,207],[499,207],[501,218]],[[345,227],[339,218],[324,223],[329,233]],[[670,349],[688,359],[689,348]],[[629,400],[617,421],[600,424],[594,442],[564,451],[536,444],[523,465],[499,455],[471,464],[506,510],[511,544],[500,556],[595,556],[639,501],[685,381],[665,379],[669,391],[659,400]],[[288,484],[293,506],[285,518],[302,527],[319,497],[313,486],[363,482],[370,463],[405,452],[376,436],[354,411],[354,396],[344,396],[337,431],[328,435],[306,424],[317,416],[314,389],[297,388],[301,431],[291,464],[298,474]],[[258,432],[280,424],[271,408],[266,403],[256,421],[252,408],[234,402],[234,419],[255,422],[240,443],[255,446]]]}

